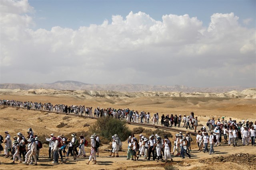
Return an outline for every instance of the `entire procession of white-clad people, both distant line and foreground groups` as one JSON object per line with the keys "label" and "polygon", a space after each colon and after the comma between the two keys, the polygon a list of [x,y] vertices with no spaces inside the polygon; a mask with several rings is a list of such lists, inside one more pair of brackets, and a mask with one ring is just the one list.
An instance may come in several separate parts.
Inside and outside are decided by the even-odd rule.
{"label": "entire procession of white-clad people, both distant line and foreground groups", "polygon": [[[124,119],[126,121],[139,122],[140,123],[149,123],[151,120],[152,123],[159,123],[158,113],[154,114],[152,117],[150,113],[141,111],[130,110],[130,109],[100,109],[97,107],[92,111],[92,107],[85,106],[65,106],[62,104],[52,105],[50,103],[41,104],[41,103],[32,103],[32,102],[17,102],[14,100],[0,100],[0,105],[8,106],[17,106],[25,107],[27,109],[45,109],[50,111],[58,111],[65,113],[74,113],[74,114],[83,114],[88,116],[95,117],[104,117],[112,116],[116,119]],[[94,115],[92,115],[94,113]],[[255,137],[256,137],[256,121],[253,123],[249,120],[241,120],[238,123],[236,120],[230,118],[228,121],[224,117],[221,117],[215,121],[214,117],[209,119],[206,123],[206,126],[198,129],[198,120],[197,117],[194,117],[194,113],[191,112],[190,115],[183,117],[181,115],[162,115],[161,116],[161,125],[167,127],[186,127],[186,129],[194,129],[198,134],[196,135],[196,143],[198,145],[198,151],[208,152],[209,154],[214,154],[214,147],[220,146],[222,144],[232,145],[233,147],[237,146],[237,141],[242,140],[242,145],[252,145],[255,146]],[[206,129],[208,127],[208,129]],[[5,132],[3,139],[1,139],[0,144],[4,143],[4,157],[8,158],[11,156],[13,160],[22,162],[24,164],[33,164],[37,165],[39,160],[40,149],[42,148],[41,141],[38,140],[38,136],[34,134],[31,128],[28,129],[27,135],[22,135],[22,133],[17,133],[18,137],[13,137],[11,139],[8,131]],[[223,138],[223,139],[222,139]],[[50,134],[49,137],[45,138],[49,142],[49,160],[53,164],[58,164],[59,160],[65,162],[69,159],[71,155],[74,160],[82,156],[86,157],[86,152],[84,147],[90,145],[90,156],[89,161],[96,164],[96,156],[99,154],[100,140],[99,137],[94,134],[90,137],[90,143],[85,139],[83,134],[77,136],[77,134],[72,134],[70,137],[64,137],[64,135],[59,135],[55,137],[54,134]],[[174,140],[168,139],[166,135],[160,137],[159,135],[150,135],[148,138],[139,135],[139,139],[134,137],[132,134],[128,138],[128,151],[127,159],[128,160],[138,160],[141,156],[145,160],[159,160],[167,162],[168,159],[172,161],[172,154],[174,156],[180,156],[185,158],[185,155],[188,158],[191,158],[191,142],[193,141],[190,136],[190,132],[182,134],[182,132],[175,135]],[[173,145],[172,145],[173,143]],[[118,135],[112,136],[112,150],[110,156],[119,157],[118,151],[122,148],[122,142],[119,139]],[[209,148],[209,149],[208,149]],[[67,151],[66,151],[67,149]],[[78,150],[79,149],[79,150]],[[1,148],[0,148],[1,150]],[[113,155],[112,155],[113,154]],[[17,157],[17,158],[16,158]]]}

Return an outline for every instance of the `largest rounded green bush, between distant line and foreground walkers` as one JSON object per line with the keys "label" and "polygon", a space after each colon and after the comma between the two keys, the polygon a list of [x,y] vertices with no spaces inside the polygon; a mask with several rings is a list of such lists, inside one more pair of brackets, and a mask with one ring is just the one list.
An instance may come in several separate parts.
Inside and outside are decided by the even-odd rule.
{"label": "largest rounded green bush, between distant line and foreground walkers", "polygon": [[104,137],[108,141],[112,140],[114,134],[117,134],[121,141],[126,140],[131,134],[124,121],[112,117],[97,119],[97,122],[89,127],[89,132],[90,134],[96,133],[99,137]]}

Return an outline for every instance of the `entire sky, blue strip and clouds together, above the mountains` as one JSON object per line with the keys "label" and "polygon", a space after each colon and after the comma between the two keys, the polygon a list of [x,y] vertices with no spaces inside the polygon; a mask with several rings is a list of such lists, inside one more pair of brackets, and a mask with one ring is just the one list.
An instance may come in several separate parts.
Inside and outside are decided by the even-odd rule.
{"label": "entire sky, blue strip and clouds together, above the mountains", "polygon": [[1,0],[0,83],[256,87],[254,0]]}

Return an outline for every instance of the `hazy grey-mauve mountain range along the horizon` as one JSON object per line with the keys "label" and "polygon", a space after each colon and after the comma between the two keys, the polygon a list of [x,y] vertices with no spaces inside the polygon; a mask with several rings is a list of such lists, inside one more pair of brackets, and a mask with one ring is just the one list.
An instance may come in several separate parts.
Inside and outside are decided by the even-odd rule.
{"label": "hazy grey-mauve mountain range along the horizon", "polygon": [[223,86],[212,88],[196,88],[184,85],[164,86],[164,85],[146,85],[146,84],[87,84],[78,81],[57,81],[50,84],[0,84],[1,89],[56,89],[56,90],[113,90],[118,92],[230,92],[232,90],[242,91],[248,87],[242,86]]}

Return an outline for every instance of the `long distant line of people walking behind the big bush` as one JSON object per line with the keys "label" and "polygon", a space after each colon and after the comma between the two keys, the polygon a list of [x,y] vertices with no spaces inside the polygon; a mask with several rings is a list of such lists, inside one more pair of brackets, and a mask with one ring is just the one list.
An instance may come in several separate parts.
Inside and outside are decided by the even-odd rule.
{"label": "long distant line of people walking behind the big bush", "polygon": [[[65,104],[51,104],[51,103],[44,103],[41,102],[20,102],[16,100],[0,100],[0,105],[6,106],[16,106],[16,107],[24,107],[27,109],[39,109],[39,110],[47,110],[47,111],[56,111],[60,113],[74,113],[76,115],[86,115],[90,117],[106,117],[111,116],[116,119],[126,120],[128,122],[136,122],[136,123],[147,123],[150,124],[152,121],[153,125],[158,125],[159,123],[159,115],[155,113],[154,115],[150,115],[149,112],[146,111],[134,111],[133,109],[124,108],[124,109],[114,109],[114,108],[107,108],[103,109],[100,107],[95,108],[94,110],[92,107],[85,107],[85,106],[67,106]],[[177,116],[176,114],[173,115],[164,114],[161,117],[161,125],[166,127],[180,127],[181,123],[184,123],[183,127],[186,129],[194,129],[196,132],[196,128],[198,127],[198,119],[194,117],[194,112],[191,112],[190,115],[182,117],[181,115]]]}

